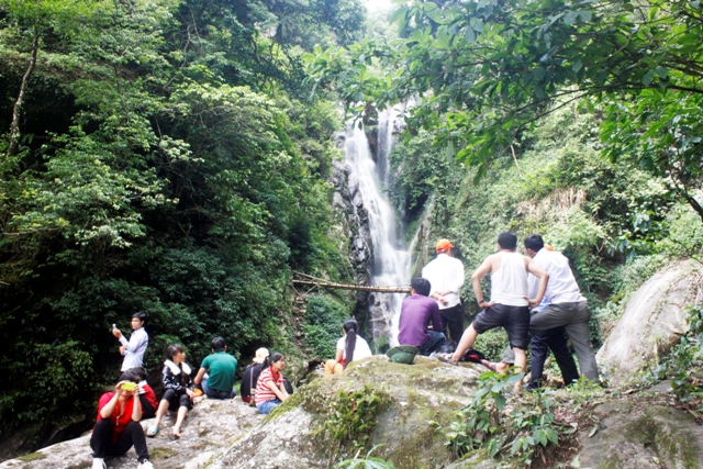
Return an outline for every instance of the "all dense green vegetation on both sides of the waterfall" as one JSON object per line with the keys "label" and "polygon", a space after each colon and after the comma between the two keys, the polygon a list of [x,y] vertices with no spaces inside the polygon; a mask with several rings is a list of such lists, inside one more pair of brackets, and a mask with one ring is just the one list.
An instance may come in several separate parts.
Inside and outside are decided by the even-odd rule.
{"label": "all dense green vegetation on both sides of the waterfall", "polygon": [[[156,371],[167,344],[197,365],[214,335],[250,356],[295,354],[302,333],[328,355],[350,303],[313,297],[294,331],[288,286],[354,275],[330,208],[339,101],[367,122],[412,103],[387,188],[405,233],[449,237],[467,271],[505,228],[542,233],[594,344],[657,268],[703,261],[699,1],[412,0],[388,18],[0,0],[0,439],[91,414],[121,362],[110,325],[135,311]],[[505,337],[480,340],[496,358]]]}

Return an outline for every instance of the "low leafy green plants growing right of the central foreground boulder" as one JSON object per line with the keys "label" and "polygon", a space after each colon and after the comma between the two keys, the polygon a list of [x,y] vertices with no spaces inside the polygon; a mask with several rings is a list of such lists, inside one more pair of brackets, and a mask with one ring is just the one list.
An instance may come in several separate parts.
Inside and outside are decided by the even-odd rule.
{"label": "low leafy green plants growing right of the central foreground boulder", "polygon": [[459,420],[448,429],[439,428],[455,455],[464,456],[484,448],[492,458],[503,454],[529,466],[532,458],[547,445],[559,444],[559,433],[563,431],[554,423],[554,414],[549,412],[553,402],[546,394],[534,393],[520,401],[511,400],[510,407],[506,406],[505,388],[514,386],[522,377],[522,373],[493,372],[479,377],[473,402],[459,413]]}

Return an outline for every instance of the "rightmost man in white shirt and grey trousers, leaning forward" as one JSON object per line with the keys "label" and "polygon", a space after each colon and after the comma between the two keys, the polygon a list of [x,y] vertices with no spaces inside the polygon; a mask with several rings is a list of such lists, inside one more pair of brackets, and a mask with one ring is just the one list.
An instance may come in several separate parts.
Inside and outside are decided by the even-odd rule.
{"label": "rightmost man in white shirt and grey trousers, leaning forward", "polygon": [[[591,311],[573,278],[569,259],[560,253],[545,248],[545,242],[538,234],[527,236],[524,244],[533,261],[549,273],[549,283],[544,297],[547,304],[532,315],[529,333],[537,335],[555,327],[566,326],[579,359],[581,375],[590,380],[598,379],[598,364],[589,328]],[[528,277],[531,294],[536,290],[538,281],[534,276]]]}

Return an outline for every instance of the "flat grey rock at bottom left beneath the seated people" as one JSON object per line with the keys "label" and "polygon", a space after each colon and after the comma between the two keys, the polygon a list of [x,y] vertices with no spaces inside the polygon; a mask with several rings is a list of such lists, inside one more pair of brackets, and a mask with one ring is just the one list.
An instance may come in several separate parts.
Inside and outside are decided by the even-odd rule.
{"label": "flat grey rock at bottom left beneath the seated people", "polygon": [[[161,429],[154,438],[147,438],[149,456],[157,469],[200,469],[217,459],[244,432],[258,424],[263,415],[235,398],[216,401],[199,398],[181,427],[181,438],[171,439],[170,427],[176,415],[161,421]],[[142,422],[146,429],[154,420]],[[105,459],[108,468],[134,469],[137,467],[134,448],[120,458]],[[90,432],[80,438],[63,442],[20,459],[0,464],[0,469],[83,469],[90,468]]]}

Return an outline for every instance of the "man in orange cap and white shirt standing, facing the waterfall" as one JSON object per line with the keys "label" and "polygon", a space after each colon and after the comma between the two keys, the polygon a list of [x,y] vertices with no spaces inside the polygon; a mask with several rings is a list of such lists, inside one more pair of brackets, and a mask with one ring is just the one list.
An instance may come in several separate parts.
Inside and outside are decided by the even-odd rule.
{"label": "man in orange cap and white shirt standing, facing the waterfall", "polygon": [[[422,277],[429,281],[429,298],[439,306],[442,331],[456,343],[464,334],[464,308],[459,290],[464,287],[464,264],[451,256],[454,246],[449,239],[439,239],[435,245],[437,257],[422,269]],[[447,334],[448,330],[448,334]]]}

